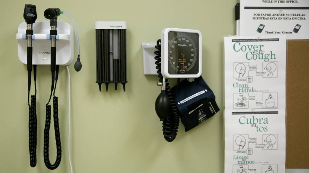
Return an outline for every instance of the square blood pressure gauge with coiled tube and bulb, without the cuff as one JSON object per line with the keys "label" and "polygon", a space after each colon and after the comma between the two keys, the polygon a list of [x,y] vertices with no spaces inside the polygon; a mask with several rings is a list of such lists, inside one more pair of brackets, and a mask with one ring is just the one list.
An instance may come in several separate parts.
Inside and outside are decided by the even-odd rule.
{"label": "square blood pressure gauge with coiled tube and bulb, without the cuff", "polygon": [[[155,48],[158,86],[161,86],[161,93],[155,101],[155,111],[160,121],[163,121],[164,139],[171,142],[176,138],[179,126],[180,113],[174,95],[180,78],[188,78],[192,82],[202,73],[202,34],[198,30],[166,28]],[[168,86],[167,78],[178,78],[174,91]]]}

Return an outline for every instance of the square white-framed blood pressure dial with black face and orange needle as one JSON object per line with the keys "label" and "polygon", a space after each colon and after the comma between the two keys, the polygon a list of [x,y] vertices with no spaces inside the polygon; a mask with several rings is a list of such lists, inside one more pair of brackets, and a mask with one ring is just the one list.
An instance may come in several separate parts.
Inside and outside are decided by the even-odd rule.
{"label": "square white-framed blood pressure dial with black face and orange needle", "polygon": [[202,72],[199,30],[166,28],[161,33],[161,72],[165,78],[198,78]]}

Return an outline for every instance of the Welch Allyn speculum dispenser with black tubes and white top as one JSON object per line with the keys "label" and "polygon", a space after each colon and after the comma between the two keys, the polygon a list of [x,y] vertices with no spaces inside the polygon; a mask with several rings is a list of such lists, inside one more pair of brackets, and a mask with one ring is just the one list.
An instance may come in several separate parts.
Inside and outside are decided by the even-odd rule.
{"label": "Welch Allyn speculum dispenser with black tubes and white top", "polygon": [[126,22],[95,22],[96,83],[121,83],[123,91],[127,81]]}

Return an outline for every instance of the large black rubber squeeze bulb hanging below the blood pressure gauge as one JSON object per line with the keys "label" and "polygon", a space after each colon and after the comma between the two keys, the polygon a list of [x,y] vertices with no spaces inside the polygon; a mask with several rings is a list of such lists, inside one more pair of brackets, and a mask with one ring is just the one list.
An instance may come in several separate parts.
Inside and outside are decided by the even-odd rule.
{"label": "large black rubber squeeze bulb hanging below the blood pressure gauge", "polygon": [[165,90],[161,90],[161,93],[158,95],[155,100],[155,112],[157,113],[160,121],[163,121],[167,116],[171,108],[171,102],[168,99],[167,93]]}

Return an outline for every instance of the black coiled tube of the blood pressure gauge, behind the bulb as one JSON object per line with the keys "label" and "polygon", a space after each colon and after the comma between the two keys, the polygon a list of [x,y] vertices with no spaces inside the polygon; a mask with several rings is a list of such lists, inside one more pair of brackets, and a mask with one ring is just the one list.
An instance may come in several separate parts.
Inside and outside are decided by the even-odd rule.
{"label": "black coiled tube of the blood pressure gauge, behind the bulb", "polygon": [[[161,74],[161,39],[157,41],[157,45],[155,46],[155,48],[158,49],[157,51],[155,51],[155,54],[157,55],[155,56],[155,60],[156,60],[155,64],[157,65],[156,69],[157,69],[159,81],[163,82],[163,76]],[[180,113],[175,103],[174,95],[171,91],[171,87],[169,86],[169,83],[167,82],[168,80],[165,79],[165,81],[166,81],[167,96],[171,103],[171,110],[162,123],[163,124],[162,126],[163,136],[167,142],[172,142],[176,138],[176,135],[177,135]]]}

